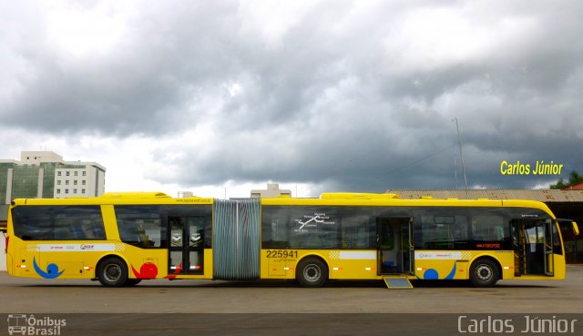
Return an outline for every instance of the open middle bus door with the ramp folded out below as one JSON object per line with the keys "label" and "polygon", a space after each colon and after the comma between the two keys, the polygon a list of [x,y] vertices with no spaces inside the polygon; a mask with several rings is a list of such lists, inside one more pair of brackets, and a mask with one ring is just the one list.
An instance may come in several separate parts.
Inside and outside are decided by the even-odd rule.
{"label": "open middle bus door with the ramp folded out below", "polygon": [[377,273],[413,274],[413,219],[377,219],[376,227]]}

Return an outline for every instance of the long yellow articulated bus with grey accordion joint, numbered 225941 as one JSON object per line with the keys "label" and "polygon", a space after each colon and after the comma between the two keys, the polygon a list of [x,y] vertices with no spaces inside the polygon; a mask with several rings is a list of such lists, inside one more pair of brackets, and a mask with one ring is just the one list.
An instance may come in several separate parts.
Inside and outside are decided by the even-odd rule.
{"label": "long yellow articulated bus with grey accordion joint, numbered 225941", "polygon": [[[573,222],[578,234],[578,227]],[[174,199],[107,193],[15,199],[7,270],[16,277],[147,279],[497,280],[565,278],[557,219],[529,200],[399,199],[327,193],[320,199]]]}

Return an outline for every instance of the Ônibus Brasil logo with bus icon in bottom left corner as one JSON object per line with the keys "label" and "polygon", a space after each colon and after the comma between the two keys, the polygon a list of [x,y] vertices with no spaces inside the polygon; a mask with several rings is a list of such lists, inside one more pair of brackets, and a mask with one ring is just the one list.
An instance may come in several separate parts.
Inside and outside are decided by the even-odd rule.
{"label": "\u00d4nibus Brasil logo with bus icon in bottom left corner", "polygon": [[53,319],[48,316],[36,318],[32,314],[8,314],[10,335],[60,335],[61,328],[65,326],[65,319]]}

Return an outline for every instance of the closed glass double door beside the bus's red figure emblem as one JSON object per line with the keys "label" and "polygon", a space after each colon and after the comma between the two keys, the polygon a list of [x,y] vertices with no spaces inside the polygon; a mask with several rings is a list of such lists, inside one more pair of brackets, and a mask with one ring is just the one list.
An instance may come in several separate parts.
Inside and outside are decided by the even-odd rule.
{"label": "closed glass double door beside the bus's red figure emblem", "polygon": [[169,274],[204,273],[204,217],[169,217]]}

